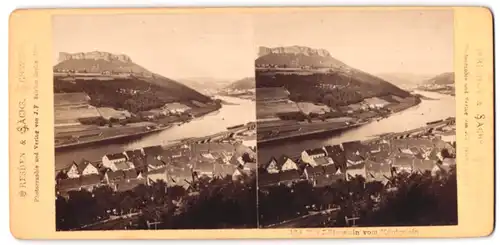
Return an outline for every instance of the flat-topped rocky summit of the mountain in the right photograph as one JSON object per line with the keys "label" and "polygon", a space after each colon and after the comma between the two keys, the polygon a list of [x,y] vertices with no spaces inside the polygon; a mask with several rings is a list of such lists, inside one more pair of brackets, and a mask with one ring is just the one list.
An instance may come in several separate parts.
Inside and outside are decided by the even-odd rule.
{"label": "flat-topped rocky summit of the mountain in the right photograph", "polygon": [[259,58],[255,60],[257,67],[281,68],[336,68],[345,64],[335,58],[325,49],[313,49],[304,46],[260,47]]}

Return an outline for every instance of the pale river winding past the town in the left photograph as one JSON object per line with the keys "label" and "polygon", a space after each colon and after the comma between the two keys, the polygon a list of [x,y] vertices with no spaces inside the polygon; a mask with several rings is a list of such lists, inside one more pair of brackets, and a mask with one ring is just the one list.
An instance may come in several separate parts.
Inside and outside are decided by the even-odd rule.
{"label": "pale river winding past the town in the left photograph", "polygon": [[145,146],[168,144],[182,138],[202,137],[225,131],[227,127],[255,121],[255,102],[235,97],[219,96],[218,99],[229,102],[200,118],[188,123],[173,126],[164,131],[144,136],[140,139],[123,143],[103,143],[90,146],[57,151],[55,154],[55,168],[60,170],[72,161],[85,158],[90,161],[100,160],[107,153],[123,152]]}

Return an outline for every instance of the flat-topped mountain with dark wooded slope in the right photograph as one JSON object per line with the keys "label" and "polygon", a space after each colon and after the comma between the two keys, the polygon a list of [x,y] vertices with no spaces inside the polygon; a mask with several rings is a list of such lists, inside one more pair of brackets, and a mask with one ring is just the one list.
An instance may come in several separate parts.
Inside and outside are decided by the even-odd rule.
{"label": "flat-topped mountain with dark wooded slope in the right photograph", "polygon": [[292,100],[340,106],[374,96],[410,96],[409,92],[384,79],[349,67],[326,50],[301,46],[262,47],[259,54],[261,56],[255,61],[256,86],[285,87]]}

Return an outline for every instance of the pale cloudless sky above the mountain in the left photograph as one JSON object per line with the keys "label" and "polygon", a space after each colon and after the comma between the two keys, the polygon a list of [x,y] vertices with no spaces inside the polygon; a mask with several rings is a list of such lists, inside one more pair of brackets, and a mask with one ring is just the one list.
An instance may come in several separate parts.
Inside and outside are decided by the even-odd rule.
{"label": "pale cloudless sky above the mountain in the left photograph", "polygon": [[98,50],[174,79],[253,77],[251,21],[231,13],[56,16],[54,61],[59,52]]}

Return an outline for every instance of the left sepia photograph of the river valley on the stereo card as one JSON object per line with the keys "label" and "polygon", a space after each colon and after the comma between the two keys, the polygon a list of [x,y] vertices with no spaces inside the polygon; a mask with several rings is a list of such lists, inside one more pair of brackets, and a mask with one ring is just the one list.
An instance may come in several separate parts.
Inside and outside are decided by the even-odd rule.
{"label": "left sepia photograph of the river valley on the stereo card", "polygon": [[250,16],[52,23],[57,231],[258,227]]}

